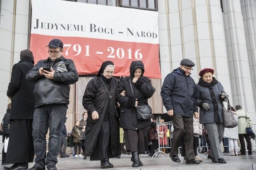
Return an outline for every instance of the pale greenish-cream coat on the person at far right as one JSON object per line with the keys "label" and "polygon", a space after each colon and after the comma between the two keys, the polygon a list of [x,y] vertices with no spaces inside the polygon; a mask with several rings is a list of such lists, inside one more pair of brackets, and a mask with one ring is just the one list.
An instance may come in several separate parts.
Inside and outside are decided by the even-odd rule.
{"label": "pale greenish-cream coat on the person at far right", "polygon": [[250,115],[244,110],[237,110],[236,114],[238,116],[238,134],[246,134],[246,128],[253,128],[253,121]]}

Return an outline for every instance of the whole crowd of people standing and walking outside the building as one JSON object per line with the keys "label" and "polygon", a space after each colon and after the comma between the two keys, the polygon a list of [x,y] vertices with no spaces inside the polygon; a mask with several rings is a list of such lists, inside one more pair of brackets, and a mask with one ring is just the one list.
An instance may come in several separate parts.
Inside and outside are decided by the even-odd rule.
{"label": "whole crowd of people standing and walking outside the building", "polygon": [[[11,122],[11,128],[4,132],[4,138],[10,140],[2,162],[13,165],[4,167],[5,170],[28,169],[28,163],[33,161],[35,164],[29,170],[57,170],[58,155],[67,158],[71,152],[72,157],[86,159],[90,156],[91,161],[99,161],[101,169],[113,168],[110,158],[120,158],[123,139],[126,151],[131,153],[131,167],[143,166],[139,155],[148,151],[149,156],[153,156],[158,143],[162,152],[166,152],[170,129],[165,125],[159,126],[160,140],[148,141],[149,127],[157,127],[156,119],[137,116],[138,106],[148,106],[148,99],[156,91],[151,79],[144,76],[146,70],[142,61],[132,61],[130,75],[120,80],[113,77],[114,63],[104,61],[96,77],[85,88],[82,104],[86,112],[82,120],[77,120],[72,130],[67,132],[69,85],[78,81],[78,72],[74,62],[62,55],[64,44],[60,39],[51,40],[46,47],[47,59],[34,65],[32,52],[24,50],[19,63],[13,66],[7,90],[12,101],[11,108],[7,110],[7,124]],[[230,155],[246,154],[245,138],[251,155],[251,139],[246,133],[246,127],[253,125],[250,115],[237,105],[233,114],[238,126],[224,128],[222,102],[228,101],[228,95],[213,77],[211,68],[199,72],[200,79],[196,84],[190,76],[194,65],[190,59],[182,59],[180,67],[165,77],[161,87],[163,106],[173,126],[169,151],[171,160],[181,162],[178,154],[182,147],[186,164],[202,162],[197,148],[199,137],[206,137],[206,133],[203,134],[201,124],[207,131],[205,141],[209,146],[208,158],[212,162],[226,163],[221,151],[223,138],[229,141]],[[6,124],[5,121],[6,118]],[[164,119],[160,119],[160,124],[164,124]],[[120,132],[124,132],[122,137]],[[49,134],[48,152],[46,134]],[[17,142],[21,138],[24,140]],[[241,153],[238,153],[237,139],[241,143]]]}

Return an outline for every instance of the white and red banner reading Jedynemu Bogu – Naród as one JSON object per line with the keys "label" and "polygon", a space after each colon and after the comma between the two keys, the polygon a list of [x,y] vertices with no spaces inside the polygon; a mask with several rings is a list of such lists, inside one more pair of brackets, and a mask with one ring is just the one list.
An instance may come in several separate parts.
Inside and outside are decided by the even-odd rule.
{"label": "white and red banner reading Jedynemu Bogu \u2013 Nar\u00f3d", "polygon": [[75,61],[79,74],[95,74],[103,61],[111,60],[116,65],[114,76],[128,76],[127,63],[142,60],[145,75],[160,78],[158,12],[32,0],[31,50],[35,60],[47,58],[45,46],[53,38],[63,41],[63,56]]}

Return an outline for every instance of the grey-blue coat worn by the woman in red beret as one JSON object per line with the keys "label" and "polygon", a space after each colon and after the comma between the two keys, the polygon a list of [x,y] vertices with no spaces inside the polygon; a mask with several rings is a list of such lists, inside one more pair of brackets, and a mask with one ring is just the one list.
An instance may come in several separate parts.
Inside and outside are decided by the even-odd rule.
{"label": "grey-blue coat worn by the woman in red beret", "polygon": [[[200,107],[200,123],[223,123],[223,99],[221,99],[220,94],[225,93],[225,91],[222,84],[214,77],[211,83],[207,83],[200,78],[196,87],[196,104]],[[203,109],[203,103],[208,103],[210,105],[210,109],[208,111]]]}

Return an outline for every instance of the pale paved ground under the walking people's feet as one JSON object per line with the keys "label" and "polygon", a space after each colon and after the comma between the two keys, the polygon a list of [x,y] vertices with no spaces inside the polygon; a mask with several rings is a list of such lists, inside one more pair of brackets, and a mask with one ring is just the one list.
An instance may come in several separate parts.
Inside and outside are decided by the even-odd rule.
{"label": "pale paved ground under the walking people's feet", "polygon": [[[168,157],[167,157],[168,156]],[[131,155],[121,155],[120,159],[112,158],[110,162],[114,165],[111,170],[256,170],[256,152],[253,155],[244,156],[228,156],[228,153],[224,153],[224,159],[226,164],[212,163],[210,159],[205,159],[198,165],[186,165],[181,157],[181,163],[174,163],[169,158],[169,155],[158,155],[154,158],[149,157],[146,154],[141,154],[140,159],[144,166],[139,168],[132,168],[130,161]],[[205,154],[203,155],[207,157]],[[58,170],[99,170],[99,161],[90,161],[90,158],[83,160],[83,157],[69,157],[58,158],[57,169]],[[29,168],[33,166],[33,163],[29,164]],[[8,166],[9,167],[9,166]],[[0,166],[3,169],[3,166]]]}

